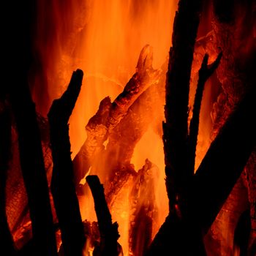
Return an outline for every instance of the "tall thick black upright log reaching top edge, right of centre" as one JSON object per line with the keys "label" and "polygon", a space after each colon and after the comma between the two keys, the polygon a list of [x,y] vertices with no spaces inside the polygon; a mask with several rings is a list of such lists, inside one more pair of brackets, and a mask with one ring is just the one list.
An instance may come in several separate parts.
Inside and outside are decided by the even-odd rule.
{"label": "tall thick black upright log reaching top edge, right of centre", "polygon": [[163,142],[170,211],[176,211],[191,176],[187,170],[189,81],[202,1],[180,0],[173,23],[173,47],[165,85]]}

